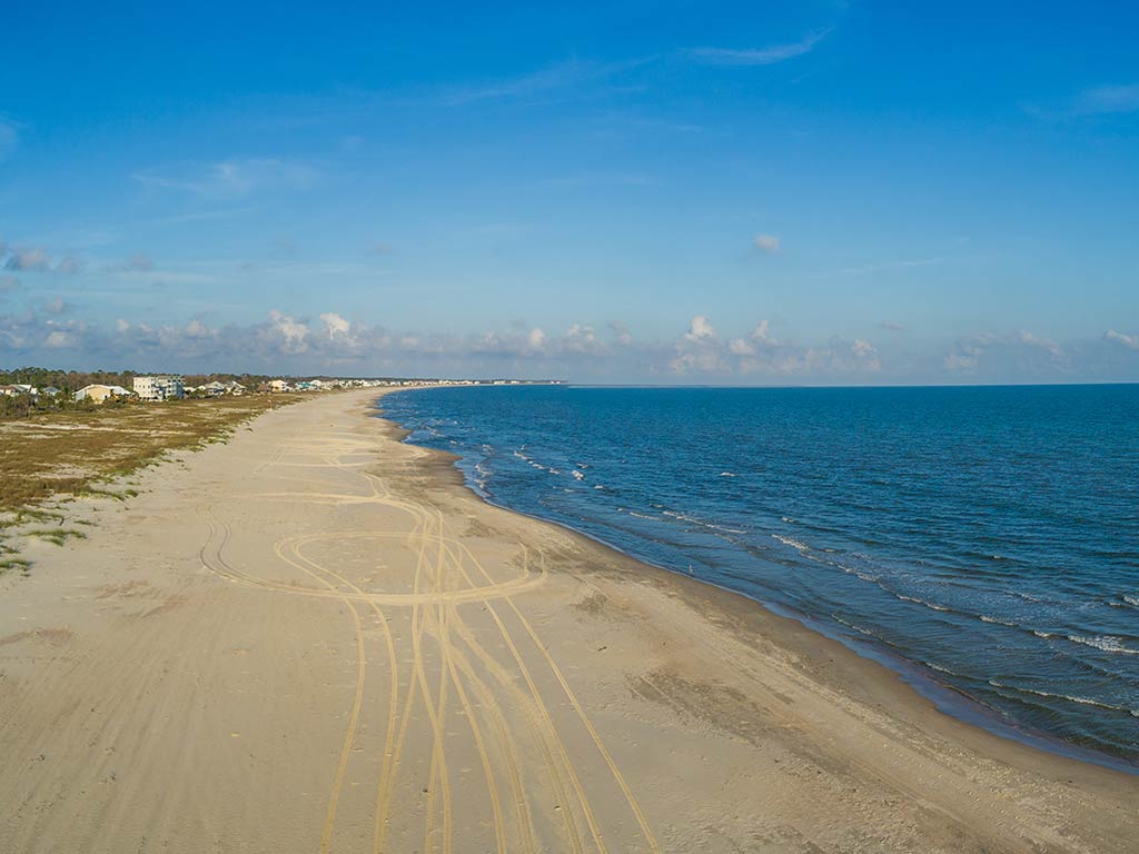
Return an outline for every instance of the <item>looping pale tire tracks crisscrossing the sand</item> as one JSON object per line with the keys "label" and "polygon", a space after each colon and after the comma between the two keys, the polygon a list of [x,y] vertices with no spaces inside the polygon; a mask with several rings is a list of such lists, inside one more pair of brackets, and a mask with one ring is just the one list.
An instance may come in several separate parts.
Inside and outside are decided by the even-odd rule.
{"label": "looping pale tire tracks crisscrossing the sand", "polygon": [[[311,449],[311,444],[305,445],[305,450]],[[343,449],[343,444],[339,445]],[[338,449],[338,450],[339,450]],[[293,450],[292,447],[289,450]],[[376,593],[366,591],[351,582],[344,575],[330,569],[321,561],[316,560],[305,553],[302,548],[313,540],[328,536],[327,534],[284,537],[279,540],[273,551],[285,564],[293,566],[306,576],[317,581],[320,589],[297,588],[295,584],[273,582],[268,578],[243,573],[230,566],[221,555],[221,550],[230,536],[227,523],[218,519],[215,526],[211,520],[211,532],[207,544],[202,549],[203,565],[215,572],[219,576],[233,583],[245,586],[268,589],[274,592],[300,593],[305,596],[319,596],[336,599],[347,606],[355,630],[355,641],[358,649],[358,673],[357,690],[353,696],[353,704],[349,715],[349,726],[345,732],[344,744],[341,748],[339,762],[331,791],[329,793],[328,810],[321,835],[321,854],[328,854],[336,823],[337,803],[343,788],[344,778],[349,762],[351,759],[352,746],[357,740],[360,717],[362,714],[363,690],[367,674],[367,658],[364,648],[363,621],[358,610],[358,605],[364,603],[372,609],[383,629],[387,655],[390,659],[391,685],[387,703],[387,734],[384,745],[384,758],[377,783],[377,795],[375,802],[375,827],[372,836],[372,848],[375,854],[385,851],[387,847],[387,826],[392,807],[392,796],[399,778],[400,756],[404,742],[411,730],[411,718],[417,705],[417,699],[421,699],[429,723],[429,738],[432,739],[432,759],[429,769],[427,808],[424,815],[425,849],[433,852],[436,849],[436,813],[442,819],[442,845],[443,854],[450,854],[453,839],[452,819],[452,794],[451,780],[448,766],[445,749],[445,730],[448,714],[448,695],[453,690],[459,707],[466,716],[472,732],[475,753],[482,765],[483,777],[486,781],[486,794],[491,807],[491,818],[495,837],[495,847],[499,854],[514,849],[508,836],[508,822],[502,808],[502,795],[498,783],[498,769],[509,787],[510,802],[513,805],[513,818],[517,823],[517,841],[521,851],[533,852],[535,849],[535,837],[533,826],[530,820],[530,807],[526,799],[526,787],[523,778],[523,766],[518,761],[518,748],[521,742],[507,722],[507,716],[501,703],[501,691],[507,692],[507,697],[513,699],[513,708],[523,713],[530,734],[539,747],[543,765],[550,780],[555,796],[565,808],[560,810],[566,834],[566,841],[575,854],[584,854],[585,839],[577,829],[576,820],[580,819],[588,828],[592,846],[600,854],[607,854],[607,847],[600,823],[593,811],[588,793],[582,785],[581,778],[570,756],[567,747],[562,738],[560,731],[550,715],[546,697],[540,689],[534,674],[526,663],[519,642],[515,639],[514,632],[507,626],[503,615],[494,607],[495,599],[506,600],[506,606],[514,618],[521,623],[524,630],[523,638],[528,639],[540,659],[544,663],[560,687],[570,706],[576,717],[581,721],[590,739],[598,749],[599,755],[608,767],[621,789],[624,799],[633,813],[633,818],[640,828],[640,836],[648,848],[659,854],[659,847],[648,828],[645,815],[633,796],[631,788],[624,780],[612,754],[605,747],[600,736],[589,720],[583,706],[572,691],[564,673],[554,662],[533,625],[526,619],[518,606],[513,601],[511,596],[522,590],[536,586],[544,578],[544,556],[540,552],[541,572],[534,576],[530,569],[528,550],[519,543],[523,550],[522,575],[507,582],[495,582],[493,576],[474,556],[470,549],[453,535],[449,535],[449,526],[442,512],[436,508],[428,510],[423,504],[401,501],[392,495],[386,483],[371,473],[361,470],[361,463],[346,465],[341,457],[347,453],[366,453],[372,450],[371,445],[360,443],[352,451],[343,454],[321,454],[322,466],[335,468],[345,474],[361,477],[368,483],[371,495],[342,495],[330,492],[322,493],[265,493],[257,498],[265,500],[288,500],[306,501],[313,503],[339,504],[376,504],[401,510],[413,520],[410,531],[387,534],[386,532],[345,532],[335,534],[336,537],[371,536],[392,539],[405,539],[409,547],[416,552],[412,592],[408,594]],[[290,463],[282,460],[285,447],[278,445],[272,459],[259,467],[259,473],[270,466],[292,466],[293,468],[317,467],[316,463]],[[286,479],[294,479],[284,476]],[[252,496],[251,496],[252,498]],[[213,508],[210,508],[213,515]],[[432,518],[434,517],[434,518]],[[216,517],[214,517],[216,518]],[[221,533],[221,543],[216,545],[215,555],[207,555],[208,545],[218,539]],[[418,547],[418,548],[416,548]],[[470,564],[477,570],[477,575],[485,580],[485,584],[480,586],[467,570],[466,564]],[[330,581],[333,580],[333,581]],[[464,588],[461,582],[465,582]],[[454,582],[454,583],[449,583]],[[521,582],[521,583],[519,583]],[[501,637],[506,648],[510,651],[510,658],[525,683],[525,690],[515,681],[515,674],[500,663],[487,649],[485,649],[475,637],[473,630],[462,618],[461,605],[481,602],[490,614],[498,634]],[[410,606],[411,610],[411,647],[412,656],[410,664],[410,676],[408,680],[405,696],[400,696],[399,659],[395,649],[394,638],[391,627],[384,615],[380,605]],[[434,664],[439,668],[439,679],[435,690],[432,691],[432,680],[428,675],[428,659],[426,648],[427,638],[432,637],[437,646],[439,659]],[[458,643],[457,643],[458,641]],[[460,646],[461,644],[461,648]],[[473,656],[474,658],[468,657]],[[483,671],[480,676],[478,671]],[[486,680],[490,680],[487,682]],[[493,685],[499,688],[495,689]],[[417,697],[421,695],[421,698]],[[472,698],[477,698],[484,722],[489,722],[490,731],[486,732],[480,725],[476,708]],[[489,740],[489,736],[493,739]],[[494,746],[492,749],[492,745]],[[566,788],[568,786],[568,789]],[[439,791],[439,810],[436,810],[436,789]],[[573,798],[571,799],[570,793]],[[574,813],[577,813],[575,816]]]}

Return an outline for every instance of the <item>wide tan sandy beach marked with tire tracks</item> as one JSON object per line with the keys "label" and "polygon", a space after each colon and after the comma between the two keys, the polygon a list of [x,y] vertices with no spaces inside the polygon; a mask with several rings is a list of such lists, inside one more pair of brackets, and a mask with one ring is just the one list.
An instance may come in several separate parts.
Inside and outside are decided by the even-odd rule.
{"label": "wide tan sandy beach marked with tire tracks", "polygon": [[[477,394],[477,391],[472,391]],[[1139,777],[268,412],[0,582],[0,852],[1133,852]]]}

